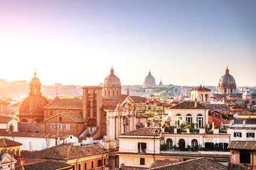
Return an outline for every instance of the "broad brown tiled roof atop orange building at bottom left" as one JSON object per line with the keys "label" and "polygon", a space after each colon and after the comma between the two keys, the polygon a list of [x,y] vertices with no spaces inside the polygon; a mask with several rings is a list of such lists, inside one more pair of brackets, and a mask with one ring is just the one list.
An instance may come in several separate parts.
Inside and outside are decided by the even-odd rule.
{"label": "broad brown tiled roof atop orange building at bottom left", "polygon": [[46,159],[78,159],[82,157],[90,157],[97,154],[105,154],[105,149],[100,145],[86,145],[75,147],[73,144],[62,144],[48,149],[38,151],[45,155]]}

